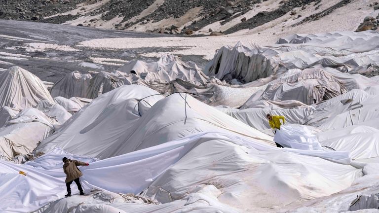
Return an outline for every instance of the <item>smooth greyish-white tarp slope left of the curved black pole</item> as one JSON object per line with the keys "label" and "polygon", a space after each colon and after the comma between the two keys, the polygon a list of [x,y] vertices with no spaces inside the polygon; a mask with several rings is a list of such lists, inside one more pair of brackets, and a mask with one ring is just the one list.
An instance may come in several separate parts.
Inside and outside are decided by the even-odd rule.
{"label": "smooth greyish-white tarp slope left of the curved black pole", "polygon": [[[151,96],[149,98],[146,98]],[[138,104],[138,100],[145,101]],[[44,140],[39,151],[61,147],[72,153],[107,158],[114,156],[108,148],[117,149],[118,141],[136,120],[139,113],[163,98],[152,89],[128,85],[96,98],[77,112],[54,135]],[[147,104],[148,103],[148,104]],[[119,143],[117,143],[119,142]]]}

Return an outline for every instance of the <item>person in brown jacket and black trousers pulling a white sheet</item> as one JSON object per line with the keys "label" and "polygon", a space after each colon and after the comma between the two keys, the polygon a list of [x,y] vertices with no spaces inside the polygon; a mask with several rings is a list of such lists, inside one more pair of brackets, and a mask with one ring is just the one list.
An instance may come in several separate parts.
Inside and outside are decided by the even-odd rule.
{"label": "person in brown jacket and black trousers pulling a white sheet", "polygon": [[70,160],[67,157],[64,157],[63,159],[63,172],[66,174],[66,187],[67,187],[67,195],[65,197],[71,196],[71,183],[75,181],[77,185],[77,189],[80,191],[80,195],[84,195],[83,188],[80,185],[79,178],[83,175],[80,170],[77,168],[77,166],[88,166],[88,163],[84,163],[77,160]]}

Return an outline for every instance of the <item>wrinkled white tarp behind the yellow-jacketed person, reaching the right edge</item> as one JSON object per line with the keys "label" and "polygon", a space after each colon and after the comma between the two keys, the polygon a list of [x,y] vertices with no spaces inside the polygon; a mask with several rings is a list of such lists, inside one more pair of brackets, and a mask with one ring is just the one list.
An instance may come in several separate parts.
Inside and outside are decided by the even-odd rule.
{"label": "wrinkled white tarp behind the yellow-jacketed person, reaching the right edge", "polygon": [[[370,88],[370,87],[368,87]],[[283,115],[289,123],[317,127],[321,130],[333,130],[354,125],[364,125],[379,129],[379,96],[364,90],[353,89],[350,92],[311,106],[293,108],[257,107],[233,109],[218,108],[228,115],[261,131],[269,129],[265,118],[267,113]],[[271,131],[272,132],[272,131]]]}

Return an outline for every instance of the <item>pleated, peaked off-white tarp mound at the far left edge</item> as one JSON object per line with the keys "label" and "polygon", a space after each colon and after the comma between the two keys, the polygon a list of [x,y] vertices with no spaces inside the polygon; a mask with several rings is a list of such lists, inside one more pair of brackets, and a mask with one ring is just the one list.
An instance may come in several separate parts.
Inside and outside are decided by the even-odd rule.
{"label": "pleated, peaked off-white tarp mound at the far left edge", "polygon": [[0,73],[0,106],[25,109],[42,100],[54,103],[36,75],[16,66]]}

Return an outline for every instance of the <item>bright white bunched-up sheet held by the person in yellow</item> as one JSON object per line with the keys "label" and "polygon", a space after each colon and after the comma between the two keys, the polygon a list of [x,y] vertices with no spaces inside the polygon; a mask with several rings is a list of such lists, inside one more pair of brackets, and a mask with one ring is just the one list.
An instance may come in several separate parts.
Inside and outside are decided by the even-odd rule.
{"label": "bright white bunched-up sheet held by the person in yellow", "polygon": [[276,130],[274,142],[289,148],[322,150],[317,137],[303,125],[281,125],[280,130]]}

